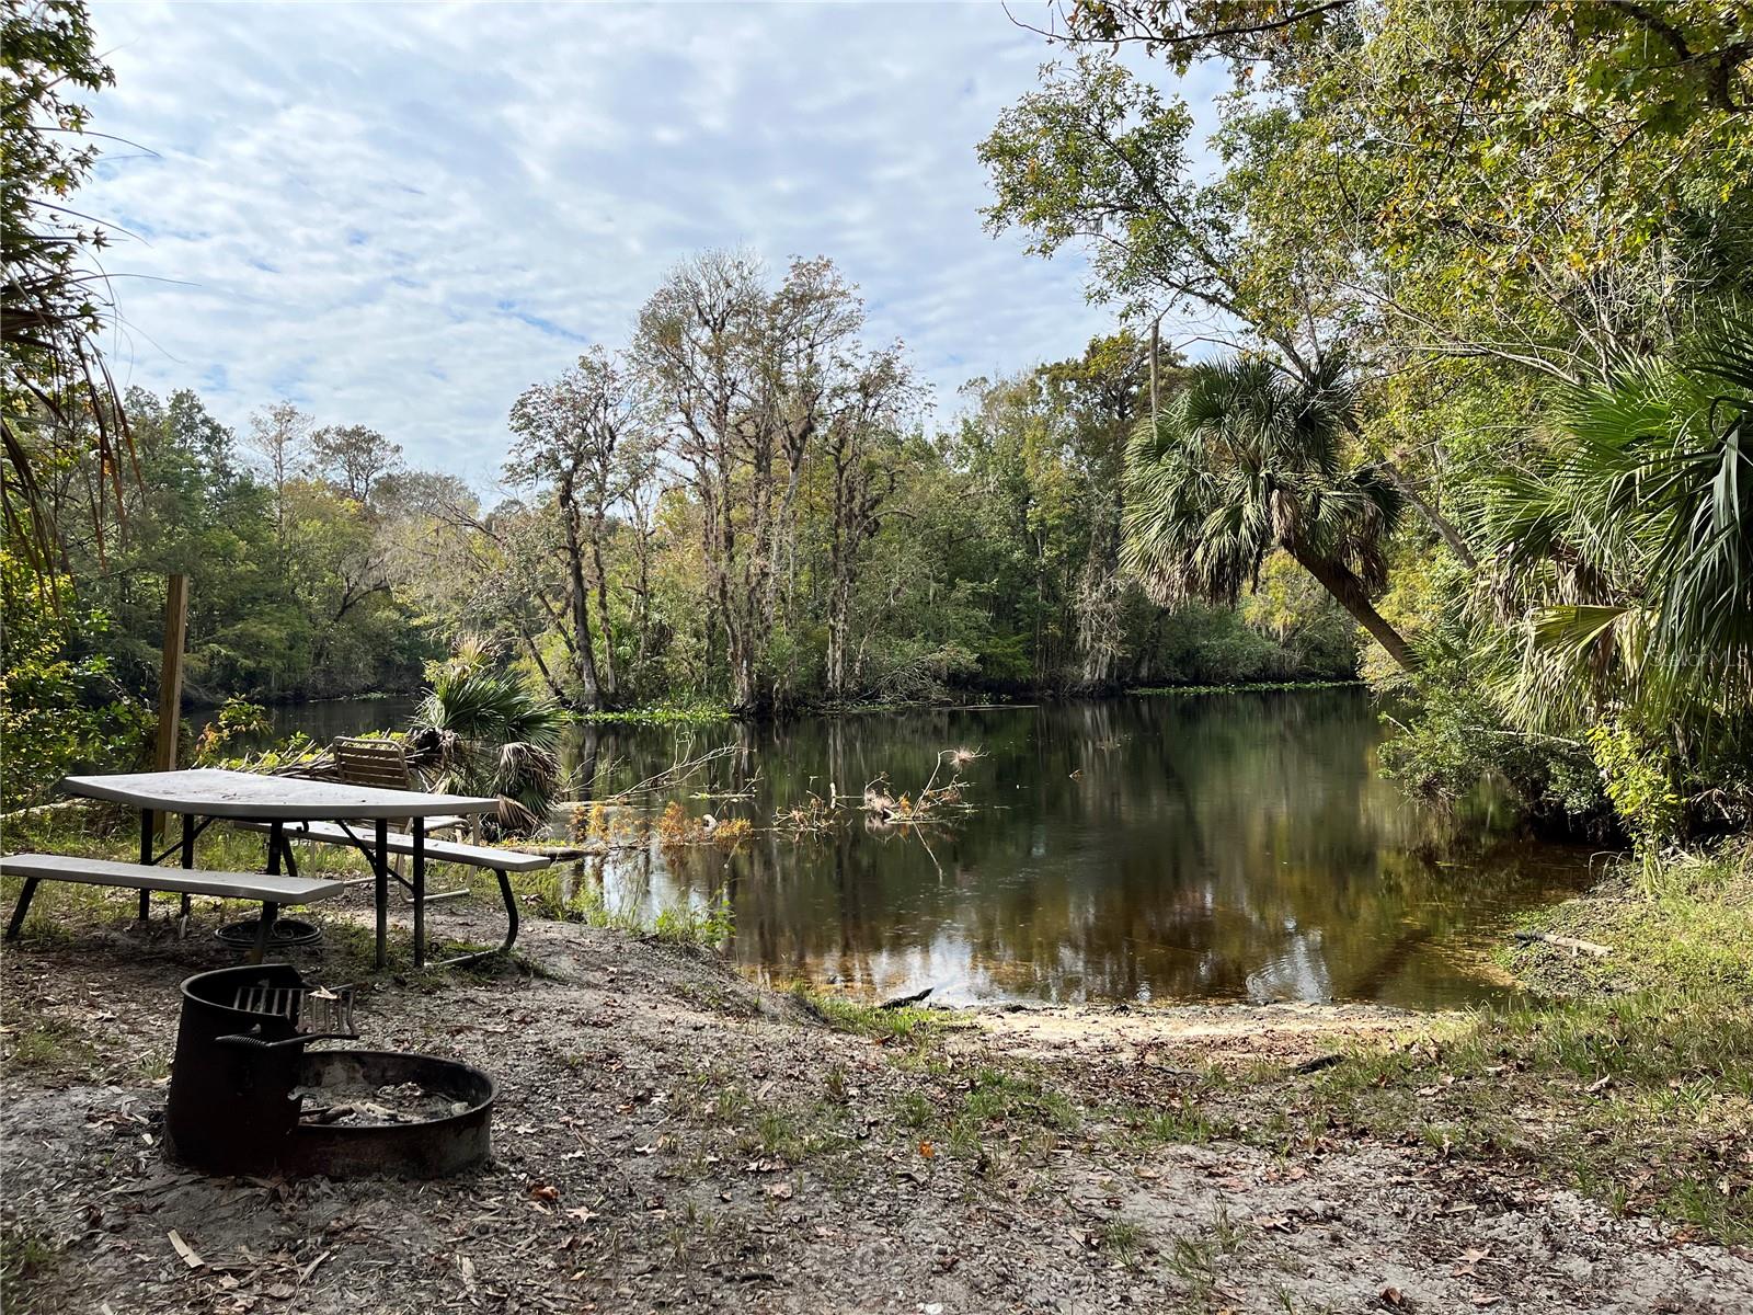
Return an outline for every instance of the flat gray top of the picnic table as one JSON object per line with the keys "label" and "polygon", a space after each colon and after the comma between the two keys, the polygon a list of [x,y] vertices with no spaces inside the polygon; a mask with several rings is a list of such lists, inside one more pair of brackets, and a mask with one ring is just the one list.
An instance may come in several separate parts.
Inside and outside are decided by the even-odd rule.
{"label": "flat gray top of the picnic table", "polygon": [[470,794],[424,794],[344,785],[337,780],[266,777],[256,771],[189,768],[184,771],[130,771],[107,777],[67,777],[61,789],[91,800],[196,817],[249,817],[254,821],[335,822],[351,817],[444,817],[484,814],[498,800]]}

